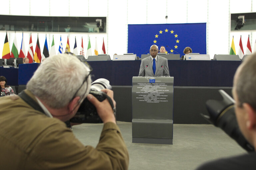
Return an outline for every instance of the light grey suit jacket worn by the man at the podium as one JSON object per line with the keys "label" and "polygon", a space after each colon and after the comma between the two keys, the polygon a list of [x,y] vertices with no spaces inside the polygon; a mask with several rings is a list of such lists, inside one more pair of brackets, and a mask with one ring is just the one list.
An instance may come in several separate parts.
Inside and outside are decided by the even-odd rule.
{"label": "light grey suit jacket worn by the man at the podium", "polygon": [[[148,67],[146,67],[146,65],[148,65]],[[163,68],[161,66],[163,66]],[[155,72],[155,75],[154,75],[153,68],[152,68],[152,62],[151,62],[151,56],[142,59],[138,76],[139,77],[161,77],[161,76],[170,77],[169,67],[168,67],[168,60],[164,57],[159,56],[159,55],[157,56],[156,72]]]}

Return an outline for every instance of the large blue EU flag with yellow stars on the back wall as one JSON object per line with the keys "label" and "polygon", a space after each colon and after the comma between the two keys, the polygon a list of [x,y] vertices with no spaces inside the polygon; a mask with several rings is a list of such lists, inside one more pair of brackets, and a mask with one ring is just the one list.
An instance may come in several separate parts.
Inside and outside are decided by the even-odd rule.
{"label": "large blue EU flag with yellow stars on the back wall", "polygon": [[128,25],[128,53],[147,54],[153,44],[173,54],[184,55],[187,46],[193,53],[206,54],[206,23]]}

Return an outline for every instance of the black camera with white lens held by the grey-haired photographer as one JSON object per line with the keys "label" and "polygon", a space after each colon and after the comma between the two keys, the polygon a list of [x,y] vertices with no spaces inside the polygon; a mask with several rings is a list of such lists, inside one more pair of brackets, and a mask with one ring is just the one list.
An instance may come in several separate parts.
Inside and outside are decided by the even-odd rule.
{"label": "black camera with white lens held by the grey-haired photographer", "polygon": [[[109,81],[104,78],[100,78],[92,82],[90,94],[96,97],[100,102],[105,99],[108,99],[112,108],[114,108],[112,99],[104,92],[102,89],[112,89]],[[84,99],[82,104],[80,105],[76,115],[70,119],[72,123],[102,123],[95,106],[88,101],[87,98]]]}

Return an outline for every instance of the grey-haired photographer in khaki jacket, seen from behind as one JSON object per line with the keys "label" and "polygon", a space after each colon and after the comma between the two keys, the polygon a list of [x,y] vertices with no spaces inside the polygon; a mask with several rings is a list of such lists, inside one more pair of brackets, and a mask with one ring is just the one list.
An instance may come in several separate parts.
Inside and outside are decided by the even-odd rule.
{"label": "grey-haired photographer in khaki jacket, seen from behind", "polygon": [[[128,169],[128,151],[113,108],[89,94],[91,69],[59,54],[40,64],[19,96],[0,99],[0,164],[3,169]],[[102,90],[113,101],[113,91]],[[65,121],[83,100],[104,123],[96,148],[84,146]]]}

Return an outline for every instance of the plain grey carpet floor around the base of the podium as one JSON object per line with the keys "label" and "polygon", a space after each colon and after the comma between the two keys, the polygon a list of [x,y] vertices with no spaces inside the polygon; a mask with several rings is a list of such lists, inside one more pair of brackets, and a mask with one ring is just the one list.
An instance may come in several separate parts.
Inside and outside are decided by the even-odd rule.
{"label": "plain grey carpet floor around the base of the podium", "polygon": [[[246,153],[213,125],[173,125],[173,144],[132,143],[132,123],[117,122],[129,151],[129,170],[187,170],[203,162]],[[96,146],[103,124],[73,126],[84,145]]]}

